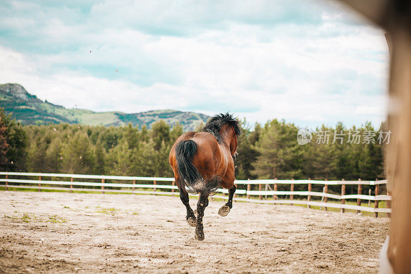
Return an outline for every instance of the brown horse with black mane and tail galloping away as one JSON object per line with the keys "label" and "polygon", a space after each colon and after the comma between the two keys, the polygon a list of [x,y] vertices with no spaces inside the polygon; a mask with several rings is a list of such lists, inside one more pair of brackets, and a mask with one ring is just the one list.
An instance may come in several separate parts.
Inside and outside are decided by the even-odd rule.
{"label": "brown horse with black mane and tail galloping away", "polygon": [[[219,114],[209,119],[201,132],[187,132],[177,138],[169,162],[180,190],[181,202],[187,209],[186,220],[196,227],[195,239],[204,240],[202,217],[210,193],[219,187],[229,189],[229,198],[218,214],[227,216],[233,207],[234,160],[237,157],[238,120]],[[189,205],[189,194],[199,193],[197,218]]]}

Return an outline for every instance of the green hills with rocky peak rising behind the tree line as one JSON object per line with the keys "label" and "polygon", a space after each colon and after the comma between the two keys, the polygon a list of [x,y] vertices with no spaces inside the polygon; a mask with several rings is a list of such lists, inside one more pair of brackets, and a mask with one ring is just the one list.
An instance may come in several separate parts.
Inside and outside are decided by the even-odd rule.
{"label": "green hills with rocky peak rising behind the tree line", "polygon": [[0,107],[22,124],[70,123],[89,125],[125,125],[132,123],[148,127],[159,119],[173,126],[179,122],[184,131],[194,130],[200,123],[206,123],[209,116],[193,112],[180,112],[172,109],[140,113],[92,112],[87,109],[65,108],[50,102],[43,102],[31,95],[19,84],[0,85]]}

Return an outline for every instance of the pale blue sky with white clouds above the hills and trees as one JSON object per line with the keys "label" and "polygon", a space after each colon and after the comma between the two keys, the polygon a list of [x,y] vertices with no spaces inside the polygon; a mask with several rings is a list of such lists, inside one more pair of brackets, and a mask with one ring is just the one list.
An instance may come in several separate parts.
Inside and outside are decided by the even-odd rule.
{"label": "pale blue sky with white clouds above the hills and trees", "polygon": [[2,1],[0,83],[68,108],[385,118],[384,32],[336,2]]}

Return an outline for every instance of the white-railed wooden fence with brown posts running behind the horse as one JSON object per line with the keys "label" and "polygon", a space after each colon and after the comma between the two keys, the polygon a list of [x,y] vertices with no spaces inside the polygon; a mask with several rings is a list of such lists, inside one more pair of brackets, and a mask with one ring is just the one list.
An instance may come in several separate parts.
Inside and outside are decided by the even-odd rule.
{"label": "white-railed wooden fence with brown posts running behind the horse", "polygon": [[[133,177],[133,176],[107,176],[107,175],[81,175],[81,174],[55,174],[55,173],[25,173],[25,172],[0,172],[0,175],[5,178],[0,178],[0,182],[4,182],[6,190],[8,188],[28,188],[44,190],[65,190],[72,192],[75,191],[97,191],[97,192],[117,192],[117,193],[135,193],[135,194],[158,194],[158,195],[175,195],[178,192],[178,188],[175,185],[174,178],[163,177]],[[13,177],[26,177],[25,179],[9,178]],[[29,177],[35,177],[36,179],[27,179]],[[45,180],[44,178],[49,178]],[[53,178],[67,178],[67,180],[53,180]],[[68,180],[70,179],[70,180]],[[76,181],[75,179],[94,179],[98,182],[91,181]],[[126,182],[106,182],[105,180],[127,181]],[[152,184],[136,184],[137,181],[152,181]],[[157,182],[163,182],[157,184]],[[164,184],[165,182],[165,184]],[[14,183],[14,184],[13,184]],[[18,185],[15,185],[15,184]],[[391,196],[389,193],[386,195],[380,195],[380,185],[386,184],[387,180],[376,181],[346,181],[346,180],[236,180],[235,184],[238,186],[245,185],[243,188],[237,189],[235,192],[234,200],[252,203],[264,203],[264,204],[291,204],[291,205],[306,205],[307,207],[316,206],[327,208],[339,208],[341,212],[345,209],[374,212],[375,216],[378,216],[379,212],[387,213],[388,216],[391,213],[390,201]],[[22,185],[24,184],[24,185]],[[42,186],[43,185],[43,186]],[[44,186],[44,185],[51,185]],[[257,185],[258,190],[252,190],[252,185]],[[278,185],[289,186],[289,191],[278,191]],[[295,185],[307,185],[307,191],[294,191]],[[312,185],[323,186],[322,192],[312,191]],[[341,194],[328,193],[328,186],[341,185]],[[356,185],[357,194],[346,195],[345,190],[347,185]],[[362,194],[362,186],[375,186],[375,195]],[[73,188],[73,186],[80,186],[82,188]],[[262,188],[265,190],[262,190]],[[84,187],[98,187],[98,188],[84,188]],[[113,189],[118,188],[118,189]],[[142,190],[142,189],[152,189]],[[157,189],[160,189],[158,191]],[[165,191],[168,190],[168,191]],[[219,194],[214,195],[215,198],[228,199],[228,196],[224,194],[228,193],[227,189],[219,189]],[[222,194],[222,195],[221,195]],[[278,197],[282,196],[282,197]],[[306,199],[294,199],[294,196],[307,196]],[[288,197],[288,198],[287,198]],[[321,197],[321,201],[312,200],[312,197]],[[339,202],[331,203],[328,199],[339,200]],[[346,204],[346,200],[357,200],[357,205]],[[362,200],[368,200],[368,206],[361,206]],[[371,201],[374,202],[371,207]],[[386,208],[379,208],[379,201],[386,201]]]}

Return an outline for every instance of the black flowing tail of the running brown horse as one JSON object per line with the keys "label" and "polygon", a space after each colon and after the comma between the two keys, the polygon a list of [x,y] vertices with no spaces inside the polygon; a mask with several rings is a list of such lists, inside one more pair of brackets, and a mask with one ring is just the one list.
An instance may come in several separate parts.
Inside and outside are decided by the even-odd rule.
{"label": "black flowing tail of the running brown horse", "polygon": [[183,140],[176,145],[177,169],[180,179],[180,189],[190,193],[210,194],[220,186],[220,177],[214,176],[204,180],[197,168],[193,165],[193,158],[197,152],[197,144],[193,140]]}

